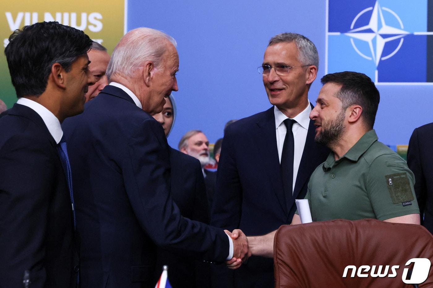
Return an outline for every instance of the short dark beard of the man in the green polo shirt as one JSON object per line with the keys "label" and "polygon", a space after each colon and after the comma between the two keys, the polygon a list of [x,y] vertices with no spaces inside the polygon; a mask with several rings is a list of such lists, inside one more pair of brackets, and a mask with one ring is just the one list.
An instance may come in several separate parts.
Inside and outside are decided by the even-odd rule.
{"label": "short dark beard of the man in the green polo shirt", "polygon": [[337,115],[334,120],[326,121],[322,123],[322,129],[319,134],[316,135],[314,140],[316,143],[325,145],[326,147],[333,147],[337,144],[343,133],[345,131],[344,128],[344,119],[346,118],[346,109],[341,109],[341,112]]}

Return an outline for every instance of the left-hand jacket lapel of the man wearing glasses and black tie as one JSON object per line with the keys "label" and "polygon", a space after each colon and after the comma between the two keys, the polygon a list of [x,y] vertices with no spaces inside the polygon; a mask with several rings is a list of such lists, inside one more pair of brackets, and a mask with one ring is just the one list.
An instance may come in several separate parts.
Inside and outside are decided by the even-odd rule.
{"label": "left-hand jacket lapel of the man wearing glasses and black tie", "polygon": [[264,117],[257,122],[255,140],[259,149],[263,169],[270,179],[275,196],[280,202],[284,214],[287,214],[286,198],[284,196],[283,182],[281,180],[280,160],[278,158],[277,137],[275,134],[274,107],[265,111]]}

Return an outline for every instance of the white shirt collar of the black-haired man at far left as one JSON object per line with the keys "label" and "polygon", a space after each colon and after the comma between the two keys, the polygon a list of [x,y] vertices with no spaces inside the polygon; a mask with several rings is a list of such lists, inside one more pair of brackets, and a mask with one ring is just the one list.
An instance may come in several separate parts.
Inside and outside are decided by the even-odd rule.
{"label": "white shirt collar of the black-haired man at far left", "polygon": [[24,97],[19,98],[16,103],[27,106],[38,113],[38,115],[41,116],[42,120],[44,121],[45,126],[47,126],[51,136],[54,138],[55,143],[58,144],[60,142],[61,138],[63,137],[63,130],[61,130],[60,121],[58,121],[57,117],[50,110],[46,109],[38,102]]}

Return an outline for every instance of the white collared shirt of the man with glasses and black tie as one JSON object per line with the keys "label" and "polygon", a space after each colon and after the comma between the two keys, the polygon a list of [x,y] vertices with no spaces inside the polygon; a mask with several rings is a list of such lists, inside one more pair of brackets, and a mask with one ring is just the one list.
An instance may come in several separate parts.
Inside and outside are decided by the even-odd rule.
{"label": "white collared shirt of the man with glasses and black tie", "polygon": [[[307,139],[308,126],[310,125],[310,112],[311,106],[308,103],[301,113],[296,115],[293,119],[296,123],[293,124],[293,138],[294,138],[294,155],[293,155],[293,191],[295,189],[297,172],[299,164],[301,163],[302,153],[304,152],[305,141]],[[281,163],[281,154],[283,153],[284,138],[286,137],[287,128],[284,125],[284,120],[288,117],[281,112],[277,106],[274,106],[275,115],[275,129],[277,136],[278,158]]]}

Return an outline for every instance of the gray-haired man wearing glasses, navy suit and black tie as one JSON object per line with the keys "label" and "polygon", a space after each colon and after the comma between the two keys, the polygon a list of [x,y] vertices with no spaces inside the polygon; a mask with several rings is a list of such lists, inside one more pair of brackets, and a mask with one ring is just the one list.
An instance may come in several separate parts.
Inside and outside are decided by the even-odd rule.
{"label": "gray-haired man wearing glasses, navy suit and black tie", "polygon": [[[317,49],[306,37],[283,33],[271,38],[259,72],[273,106],[226,128],[212,225],[261,235],[290,224],[294,200],[304,198],[311,173],[329,154],[314,142],[309,118],[308,90],[318,65]],[[234,272],[233,282],[274,287],[272,260],[252,256]]]}

